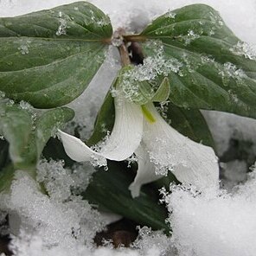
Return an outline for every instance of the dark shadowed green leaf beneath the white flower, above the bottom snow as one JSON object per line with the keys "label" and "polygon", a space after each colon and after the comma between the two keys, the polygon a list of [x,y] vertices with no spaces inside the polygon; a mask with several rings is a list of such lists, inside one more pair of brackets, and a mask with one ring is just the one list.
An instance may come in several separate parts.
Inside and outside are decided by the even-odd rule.
{"label": "dark shadowed green leaf beneath the white flower, above the bottom snow", "polygon": [[144,186],[140,196],[133,199],[128,189],[134,178],[131,170],[125,170],[124,163],[115,162],[109,162],[108,168],[93,174],[93,181],[84,193],[86,200],[141,225],[164,229],[168,233],[167,210],[159,205],[158,192]]}

